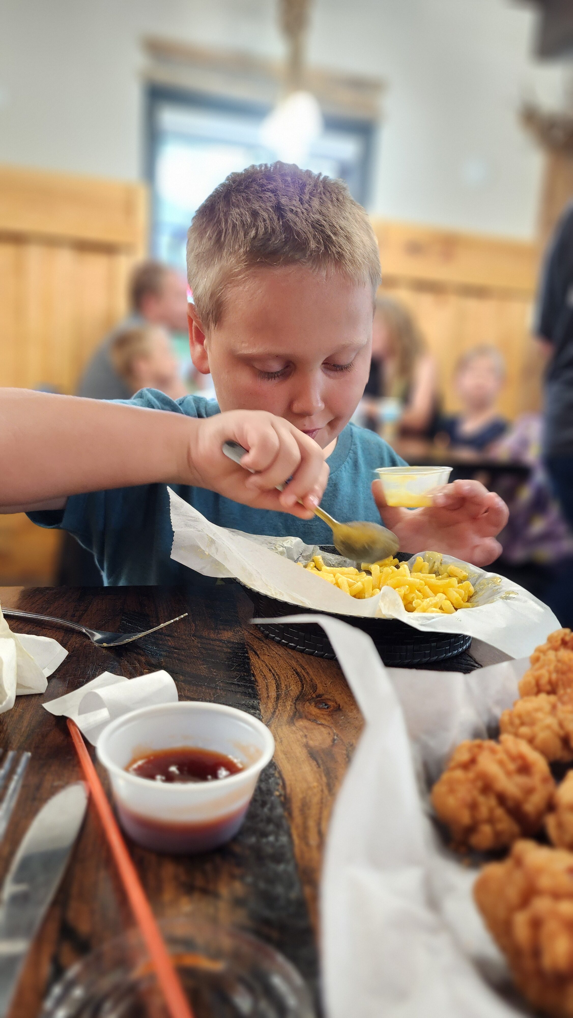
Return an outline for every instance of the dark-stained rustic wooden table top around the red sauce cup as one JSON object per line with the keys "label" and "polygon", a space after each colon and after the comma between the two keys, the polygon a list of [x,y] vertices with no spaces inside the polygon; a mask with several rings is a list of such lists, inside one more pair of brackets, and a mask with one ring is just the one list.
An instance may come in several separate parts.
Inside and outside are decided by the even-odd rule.
{"label": "dark-stained rustic wooden table top around the red sauce cup", "polygon": [[[317,892],[333,799],[362,722],[336,664],[277,645],[248,620],[251,604],[235,582],[197,578],[178,588],[0,588],[8,608],[43,612],[98,629],[145,629],[187,611],[173,627],[109,651],[79,633],[10,619],[14,632],[53,636],[69,656],[44,697],[19,696],[0,715],[0,746],[28,749],[32,760],[8,834],[0,876],[40,806],[80,777],[62,719],[42,709],[103,671],[128,678],[164,668],[180,699],[248,711],[276,739],[238,836],[195,857],[161,856],[130,844],[154,911],[200,915],[253,932],[286,955],[317,989]],[[98,765],[99,767],[99,765]],[[105,775],[99,768],[100,774]],[[132,925],[92,809],[63,883],[30,953],[10,1018],[36,1018],[55,980],[78,958]]]}

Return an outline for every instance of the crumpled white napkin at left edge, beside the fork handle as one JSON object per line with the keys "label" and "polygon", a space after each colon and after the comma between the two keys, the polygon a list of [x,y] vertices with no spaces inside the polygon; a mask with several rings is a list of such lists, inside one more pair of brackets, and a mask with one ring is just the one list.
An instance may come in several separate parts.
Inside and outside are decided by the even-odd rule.
{"label": "crumpled white napkin at left edge, beside the fork handle", "polygon": [[64,658],[67,651],[49,636],[16,636],[0,608],[0,714],[14,705],[16,696],[43,693]]}

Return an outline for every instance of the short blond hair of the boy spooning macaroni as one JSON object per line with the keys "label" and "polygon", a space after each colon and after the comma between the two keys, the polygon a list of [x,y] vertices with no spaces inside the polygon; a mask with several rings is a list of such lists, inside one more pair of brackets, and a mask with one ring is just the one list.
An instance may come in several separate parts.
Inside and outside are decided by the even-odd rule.
{"label": "short blond hair of the boy spooning macaroni", "polygon": [[187,278],[205,329],[221,319],[226,288],[250,269],[304,266],[380,285],[380,254],[366,213],[342,180],[286,163],[231,173],[197,209]]}

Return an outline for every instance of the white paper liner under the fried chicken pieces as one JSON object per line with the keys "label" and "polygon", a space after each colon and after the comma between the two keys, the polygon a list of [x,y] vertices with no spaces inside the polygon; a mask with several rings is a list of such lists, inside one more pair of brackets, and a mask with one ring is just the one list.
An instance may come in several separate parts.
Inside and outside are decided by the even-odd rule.
{"label": "white paper liner under the fried chicken pieces", "polygon": [[328,1018],[530,1014],[473,904],[477,869],[444,847],[427,799],[452,749],[493,733],[528,660],[470,675],[387,669],[369,636],[338,619],[273,621],[323,627],[366,722],[325,851]]}

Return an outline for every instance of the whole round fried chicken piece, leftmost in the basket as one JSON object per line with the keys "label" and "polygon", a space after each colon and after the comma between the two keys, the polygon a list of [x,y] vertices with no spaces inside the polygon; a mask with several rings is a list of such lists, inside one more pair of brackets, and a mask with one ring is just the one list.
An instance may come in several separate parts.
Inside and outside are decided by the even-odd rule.
{"label": "whole round fried chicken piece, leftmost in the basket", "polygon": [[523,739],[502,735],[460,743],[432,790],[432,802],[458,848],[503,848],[534,834],[555,782],[547,760]]}

